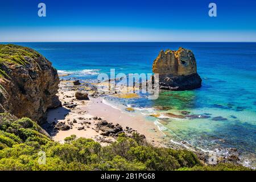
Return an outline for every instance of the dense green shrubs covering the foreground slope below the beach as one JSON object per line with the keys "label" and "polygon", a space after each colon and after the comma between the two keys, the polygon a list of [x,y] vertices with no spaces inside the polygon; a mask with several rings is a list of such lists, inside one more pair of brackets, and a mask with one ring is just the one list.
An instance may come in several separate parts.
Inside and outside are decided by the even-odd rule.
{"label": "dense green shrubs covering the foreground slope below the beach", "polygon": [[[46,163],[40,164],[40,152]],[[65,138],[54,142],[29,118],[0,114],[0,170],[249,170],[223,163],[205,166],[187,150],[151,146],[144,137],[120,134],[117,141],[101,146],[93,139]]]}

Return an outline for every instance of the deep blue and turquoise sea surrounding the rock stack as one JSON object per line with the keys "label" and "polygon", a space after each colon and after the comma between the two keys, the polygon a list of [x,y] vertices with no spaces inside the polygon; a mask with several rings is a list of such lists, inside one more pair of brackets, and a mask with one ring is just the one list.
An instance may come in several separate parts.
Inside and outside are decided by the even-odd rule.
{"label": "deep blue and turquoise sea surrounding the rock stack", "polygon": [[[110,68],[122,73],[151,73],[161,49],[191,49],[203,79],[200,89],[164,91],[158,100],[120,101],[154,113],[168,106],[171,113],[207,114],[210,118],[148,120],[168,133],[172,141],[185,140],[202,150],[228,152],[237,148],[241,162],[256,166],[256,43],[15,43],[31,47],[50,60],[60,73],[96,78]],[[152,109],[152,110],[150,110]],[[215,119],[222,117],[224,119]],[[220,120],[220,121],[216,121]]]}

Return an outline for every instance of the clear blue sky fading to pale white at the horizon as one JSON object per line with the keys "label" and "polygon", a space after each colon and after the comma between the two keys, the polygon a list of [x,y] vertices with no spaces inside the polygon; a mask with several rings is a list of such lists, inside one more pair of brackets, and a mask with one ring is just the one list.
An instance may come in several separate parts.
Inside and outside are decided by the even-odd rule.
{"label": "clear blue sky fading to pale white at the horizon", "polygon": [[255,12],[255,0],[0,0],[0,42],[256,42]]}

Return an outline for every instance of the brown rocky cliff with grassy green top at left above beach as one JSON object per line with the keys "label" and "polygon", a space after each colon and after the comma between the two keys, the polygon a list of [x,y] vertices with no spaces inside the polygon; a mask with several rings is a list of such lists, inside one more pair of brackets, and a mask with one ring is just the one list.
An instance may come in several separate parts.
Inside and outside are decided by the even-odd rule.
{"label": "brown rocky cliff with grassy green top at left above beach", "polygon": [[0,45],[0,113],[42,123],[47,109],[61,104],[56,96],[59,82],[56,69],[38,52]]}

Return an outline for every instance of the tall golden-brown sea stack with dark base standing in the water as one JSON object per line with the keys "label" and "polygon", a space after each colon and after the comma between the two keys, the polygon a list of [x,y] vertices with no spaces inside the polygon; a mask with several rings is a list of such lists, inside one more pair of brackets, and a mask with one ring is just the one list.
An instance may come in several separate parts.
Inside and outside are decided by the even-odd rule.
{"label": "tall golden-brown sea stack with dark base standing in the water", "polygon": [[160,51],[152,69],[153,73],[159,74],[159,89],[192,90],[201,87],[196,59],[189,49],[180,47],[177,51]]}

